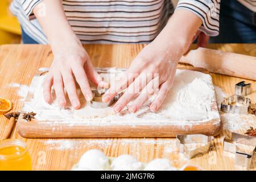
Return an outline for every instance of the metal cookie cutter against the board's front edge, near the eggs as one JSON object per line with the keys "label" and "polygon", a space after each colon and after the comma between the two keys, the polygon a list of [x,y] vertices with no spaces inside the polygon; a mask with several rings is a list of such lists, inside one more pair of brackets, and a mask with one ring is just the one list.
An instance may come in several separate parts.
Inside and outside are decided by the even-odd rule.
{"label": "metal cookie cutter against the board's front edge, near the eggs", "polygon": [[[183,153],[188,159],[192,159],[197,155],[205,154],[210,149],[210,143],[214,139],[212,136],[195,134],[195,135],[177,135],[176,146],[179,152]],[[196,148],[188,147],[188,144],[202,144]]]}

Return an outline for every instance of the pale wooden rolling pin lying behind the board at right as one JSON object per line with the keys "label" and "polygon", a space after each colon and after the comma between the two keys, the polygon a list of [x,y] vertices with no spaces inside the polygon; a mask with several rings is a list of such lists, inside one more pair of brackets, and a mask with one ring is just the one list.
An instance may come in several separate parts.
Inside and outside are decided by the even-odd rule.
{"label": "pale wooden rolling pin lying behind the board at right", "polygon": [[200,47],[183,55],[179,63],[205,68],[212,73],[256,80],[256,57],[253,56]]}

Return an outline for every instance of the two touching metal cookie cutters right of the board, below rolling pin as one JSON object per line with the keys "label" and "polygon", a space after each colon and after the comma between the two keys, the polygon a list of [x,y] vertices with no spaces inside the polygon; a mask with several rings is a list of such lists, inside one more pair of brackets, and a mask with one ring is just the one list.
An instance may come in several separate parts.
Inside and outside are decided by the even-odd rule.
{"label": "two touching metal cookie cutters right of the board, below rolling pin", "polygon": [[245,96],[251,93],[251,84],[241,81],[235,86],[235,94],[221,102],[221,111],[225,113],[248,114],[251,100]]}

